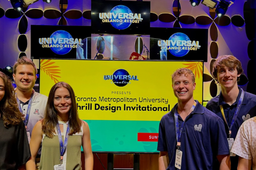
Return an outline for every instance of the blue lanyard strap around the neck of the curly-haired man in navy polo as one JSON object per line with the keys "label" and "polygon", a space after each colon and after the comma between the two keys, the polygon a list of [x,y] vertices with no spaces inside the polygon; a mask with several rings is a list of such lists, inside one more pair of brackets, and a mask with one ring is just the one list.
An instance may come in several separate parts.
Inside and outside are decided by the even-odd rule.
{"label": "blue lanyard strap around the neck of the curly-haired man in navy polo", "polygon": [[[194,111],[196,107],[196,102],[193,104],[193,106],[191,107],[191,109],[189,110],[189,115],[191,114],[191,112]],[[188,116],[189,116],[188,115]],[[176,108],[175,109],[175,112],[174,112],[174,121],[175,121],[175,131],[176,131],[176,139],[177,139],[177,148],[180,149],[180,144],[181,144],[181,132],[182,132],[182,129],[184,127],[184,124],[188,118],[188,116],[186,117],[186,119],[184,120],[184,122],[181,124],[181,128],[179,130],[179,113],[178,113],[178,109]]]}

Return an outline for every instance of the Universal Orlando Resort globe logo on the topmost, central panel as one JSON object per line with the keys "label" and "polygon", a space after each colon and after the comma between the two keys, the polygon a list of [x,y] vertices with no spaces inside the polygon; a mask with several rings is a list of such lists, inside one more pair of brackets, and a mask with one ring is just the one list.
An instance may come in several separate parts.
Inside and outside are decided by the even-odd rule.
{"label": "Universal Orlando Resort globe logo on the topmost, central panel", "polygon": [[132,13],[129,7],[117,5],[108,13],[99,13],[102,22],[110,22],[116,29],[126,29],[132,23],[139,23],[143,20],[140,13]]}

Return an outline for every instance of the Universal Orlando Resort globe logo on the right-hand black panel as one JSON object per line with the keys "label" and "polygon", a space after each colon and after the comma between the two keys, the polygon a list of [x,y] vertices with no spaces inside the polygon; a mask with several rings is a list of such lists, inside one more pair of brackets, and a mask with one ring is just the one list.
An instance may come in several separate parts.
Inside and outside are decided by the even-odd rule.
{"label": "Universal Orlando Resort globe logo on the right-hand black panel", "polygon": [[[168,40],[164,41],[167,50],[174,56],[184,56],[190,50],[197,51],[201,45],[199,41],[191,41],[186,34],[175,33]],[[162,47],[162,41],[158,41],[158,46]]]}

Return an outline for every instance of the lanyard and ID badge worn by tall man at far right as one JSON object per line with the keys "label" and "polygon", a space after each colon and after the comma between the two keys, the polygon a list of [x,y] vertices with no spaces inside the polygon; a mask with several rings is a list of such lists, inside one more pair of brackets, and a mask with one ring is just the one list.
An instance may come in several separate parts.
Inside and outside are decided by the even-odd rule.
{"label": "lanyard and ID badge worn by tall man at far right", "polygon": [[221,111],[222,117],[223,117],[223,119],[225,120],[225,123],[227,124],[228,130],[229,130],[228,146],[229,146],[230,156],[236,156],[235,153],[232,153],[232,152],[231,152],[231,149],[232,149],[232,146],[233,146],[233,143],[234,143],[234,138],[230,138],[230,136],[231,136],[231,133],[232,133],[231,129],[232,129],[234,123],[236,122],[236,119],[237,119],[239,110],[241,109],[243,99],[244,99],[244,91],[243,91],[243,89],[241,88],[241,95],[240,95],[240,98],[239,98],[239,100],[238,100],[238,103],[237,103],[237,106],[236,106],[236,110],[235,110],[235,114],[234,114],[234,116],[233,116],[233,119],[232,119],[232,121],[231,121],[230,126],[228,125],[227,119],[226,119],[226,117],[225,117],[224,110],[223,110],[223,106],[220,105],[220,111]]}

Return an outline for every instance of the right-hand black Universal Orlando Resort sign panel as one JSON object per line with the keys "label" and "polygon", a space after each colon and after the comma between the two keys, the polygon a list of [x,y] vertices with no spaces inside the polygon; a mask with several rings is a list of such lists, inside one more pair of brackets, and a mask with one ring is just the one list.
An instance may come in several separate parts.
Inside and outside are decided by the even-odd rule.
{"label": "right-hand black Universal Orlando Resort sign panel", "polygon": [[[150,28],[150,37],[163,39],[168,60],[207,62],[207,29]],[[158,41],[158,47],[162,47],[162,41]],[[159,54],[151,50],[150,56],[152,54],[157,59]]]}

